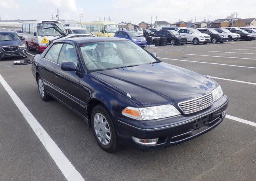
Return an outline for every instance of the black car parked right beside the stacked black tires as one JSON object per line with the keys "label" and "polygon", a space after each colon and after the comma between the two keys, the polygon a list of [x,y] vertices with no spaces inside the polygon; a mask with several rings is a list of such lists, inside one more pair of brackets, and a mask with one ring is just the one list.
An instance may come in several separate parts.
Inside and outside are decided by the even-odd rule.
{"label": "black car parked right beside the stacked black tires", "polygon": [[167,43],[171,43],[171,45],[184,45],[185,43],[187,43],[187,37],[184,35],[180,35],[175,30],[156,31],[155,37],[166,37]]}

